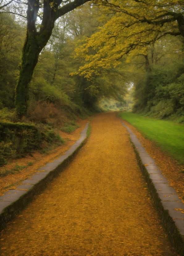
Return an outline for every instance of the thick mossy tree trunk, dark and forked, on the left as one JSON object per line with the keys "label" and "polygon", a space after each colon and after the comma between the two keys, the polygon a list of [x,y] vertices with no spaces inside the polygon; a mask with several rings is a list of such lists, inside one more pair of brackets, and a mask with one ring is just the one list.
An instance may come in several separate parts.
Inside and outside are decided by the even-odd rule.
{"label": "thick mossy tree trunk, dark and forked, on the left", "polygon": [[28,0],[27,34],[23,46],[20,75],[15,95],[16,114],[20,119],[26,115],[29,83],[38,62],[39,54],[52,34],[56,19],[88,1],[90,0],[74,0],[60,7],[62,0],[44,0],[42,23],[40,30],[37,31],[36,19],[40,9],[40,2],[39,0]]}

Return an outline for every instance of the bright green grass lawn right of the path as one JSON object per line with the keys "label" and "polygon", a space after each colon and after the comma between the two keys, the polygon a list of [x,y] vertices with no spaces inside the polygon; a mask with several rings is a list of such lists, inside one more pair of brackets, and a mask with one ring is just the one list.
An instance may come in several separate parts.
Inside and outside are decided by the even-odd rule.
{"label": "bright green grass lawn right of the path", "polygon": [[120,116],[135,126],[144,137],[154,141],[169,156],[184,162],[184,126],[172,121],[144,117],[131,112],[120,113]]}

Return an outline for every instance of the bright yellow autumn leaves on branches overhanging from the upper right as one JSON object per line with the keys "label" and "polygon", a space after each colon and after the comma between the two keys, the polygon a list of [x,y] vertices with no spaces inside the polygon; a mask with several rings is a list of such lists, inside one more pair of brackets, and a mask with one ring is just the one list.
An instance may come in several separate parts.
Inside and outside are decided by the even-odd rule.
{"label": "bright yellow autumn leaves on branches overhanging from the upper right", "polygon": [[127,62],[135,55],[146,55],[150,44],[164,35],[182,35],[179,1],[100,0],[97,4],[102,5],[99,20],[104,25],[90,38],[78,41],[75,49],[76,56],[85,60],[79,73],[87,78],[98,74],[99,68],[117,66],[128,53]]}

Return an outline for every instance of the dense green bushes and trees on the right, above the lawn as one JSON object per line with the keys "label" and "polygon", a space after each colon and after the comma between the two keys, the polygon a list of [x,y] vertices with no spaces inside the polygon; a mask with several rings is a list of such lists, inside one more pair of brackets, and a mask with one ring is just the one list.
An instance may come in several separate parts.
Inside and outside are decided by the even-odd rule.
{"label": "dense green bushes and trees on the right, above the lawn", "polygon": [[[148,51],[147,64],[139,67],[134,77],[133,112],[160,119],[183,121],[184,75],[180,38],[167,37]],[[152,52],[152,55],[151,55]],[[141,59],[142,58],[142,59]],[[138,65],[143,57],[134,62]]]}

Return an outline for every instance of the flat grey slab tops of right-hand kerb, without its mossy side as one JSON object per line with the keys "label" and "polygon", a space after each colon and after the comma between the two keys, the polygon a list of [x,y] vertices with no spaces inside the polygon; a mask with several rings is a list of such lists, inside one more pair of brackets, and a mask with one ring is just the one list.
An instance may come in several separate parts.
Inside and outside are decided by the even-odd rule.
{"label": "flat grey slab tops of right-hand kerb, without its mossy side", "polygon": [[161,173],[161,170],[156,166],[153,158],[147,154],[144,147],[136,138],[136,135],[134,135],[128,126],[126,126],[123,122],[122,124],[130,133],[132,142],[139,152],[142,163],[145,165],[145,168],[150,174],[150,179],[152,179],[164,209],[169,211],[169,215],[171,218],[173,218],[178,230],[182,235],[184,235],[184,214],[182,213],[182,211],[184,211],[184,204],[178,198],[175,189],[169,185],[168,180]]}

